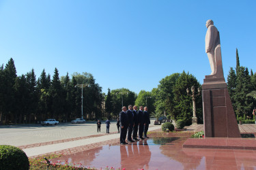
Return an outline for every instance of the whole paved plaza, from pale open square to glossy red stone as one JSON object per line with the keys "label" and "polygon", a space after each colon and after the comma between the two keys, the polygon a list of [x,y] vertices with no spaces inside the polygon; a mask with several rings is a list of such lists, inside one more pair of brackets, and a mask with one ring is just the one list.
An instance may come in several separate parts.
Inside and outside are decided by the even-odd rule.
{"label": "whole paved plaza, from pale open square to glossy red stone", "polygon": [[[109,134],[104,124],[97,133],[96,122],[0,126],[0,144],[18,146],[31,158],[63,154],[51,162],[96,169],[256,169],[256,150],[182,148],[190,135],[203,130],[201,124],[176,133],[162,133],[160,128],[151,123],[149,139],[120,146],[115,122]],[[241,133],[256,133],[256,124],[239,128]]]}

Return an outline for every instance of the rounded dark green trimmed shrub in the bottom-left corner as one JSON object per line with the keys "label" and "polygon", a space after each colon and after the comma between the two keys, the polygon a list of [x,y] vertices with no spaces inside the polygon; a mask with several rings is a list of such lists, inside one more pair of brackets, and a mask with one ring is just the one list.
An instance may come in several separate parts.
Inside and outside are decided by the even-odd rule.
{"label": "rounded dark green trimmed shrub in the bottom-left corner", "polygon": [[1,169],[29,169],[29,158],[15,146],[0,146]]}

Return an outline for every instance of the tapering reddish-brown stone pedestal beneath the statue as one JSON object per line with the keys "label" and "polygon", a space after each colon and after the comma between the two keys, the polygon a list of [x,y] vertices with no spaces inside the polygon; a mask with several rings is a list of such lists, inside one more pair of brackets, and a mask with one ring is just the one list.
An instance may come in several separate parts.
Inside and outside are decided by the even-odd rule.
{"label": "tapering reddish-brown stone pedestal beneath the statue", "polygon": [[225,80],[203,80],[203,124],[205,137],[241,137]]}

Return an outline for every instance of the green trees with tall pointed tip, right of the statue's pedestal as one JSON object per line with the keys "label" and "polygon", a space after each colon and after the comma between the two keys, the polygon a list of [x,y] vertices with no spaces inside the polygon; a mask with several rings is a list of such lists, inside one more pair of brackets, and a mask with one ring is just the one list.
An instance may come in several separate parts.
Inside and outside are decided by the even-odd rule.
{"label": "green trees with tall pointed tip, right of the statue's pedestal", "polygon": [[236,68],[230,67],[227,76],[227,88],[236,117],[244,120],[253,118],[256,99],[248,94],[256,90],[256,74],[249,73],[247,67],[240,66],[238,49],[236,49]]}

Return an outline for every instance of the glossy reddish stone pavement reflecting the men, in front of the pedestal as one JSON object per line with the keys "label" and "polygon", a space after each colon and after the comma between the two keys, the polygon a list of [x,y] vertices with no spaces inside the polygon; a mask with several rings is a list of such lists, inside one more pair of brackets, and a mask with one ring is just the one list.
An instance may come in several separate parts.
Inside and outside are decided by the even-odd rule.
{"label": "glossy reddish stone pavement reflecting the men, in front of the pedestal", "polygon": [[104,169],[256,169],[256,151],[182,148],[191,133],[152,133],[150,139],[114,143],[61,158],[53,163]]}

